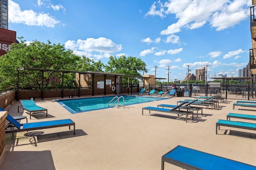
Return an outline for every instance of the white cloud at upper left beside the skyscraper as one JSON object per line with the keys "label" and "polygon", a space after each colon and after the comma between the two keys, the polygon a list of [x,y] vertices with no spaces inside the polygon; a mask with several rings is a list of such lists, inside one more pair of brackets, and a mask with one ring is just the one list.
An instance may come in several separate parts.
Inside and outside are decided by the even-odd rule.
{"label": "white cloud at upper left beside the skyscraper", "polygon": [[50,16],[50,14],[44,14],[42,12],[36,13],[33,10],[22,11],[19,4],[12,0],[8,1],[8,10],[8,21],[12,23],[46,27],[54,27],[56,24],[60,23],[60,21]]}

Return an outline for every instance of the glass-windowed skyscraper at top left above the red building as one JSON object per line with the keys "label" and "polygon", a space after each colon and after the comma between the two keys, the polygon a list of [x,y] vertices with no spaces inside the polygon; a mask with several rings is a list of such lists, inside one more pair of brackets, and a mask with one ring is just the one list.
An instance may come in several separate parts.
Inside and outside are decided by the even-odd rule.
{"label": "glass-windowed skyscraper at top left above the red building", "polygon": [[8,0],[0,0],[0,28],[8,29]]}

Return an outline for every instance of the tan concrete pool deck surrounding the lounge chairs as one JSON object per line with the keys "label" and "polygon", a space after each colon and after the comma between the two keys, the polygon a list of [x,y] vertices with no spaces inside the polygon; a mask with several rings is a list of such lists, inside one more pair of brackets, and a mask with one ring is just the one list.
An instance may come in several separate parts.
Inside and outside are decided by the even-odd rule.
{"label": "tan concrete pool deck surrounding the lounge chairs", "polygon": [[[142,107],[176,105],[186,98],[76,114],[54,99],[35,100],[38,106],[48,109],[48,117],[37,114],[32,119],[26,111],[18,113],[20,101],[16,101],[6,108],[10,115],[26,115],[28,122],[72,119],[76,123],[76,135],[68,127],[20,132],[13,139],[12,134],[6,134],[6,152],[0,169],[159,170],[162,155],[177,145],[256,166],[256,131],[220,127],[216,135],[218,119],[226,120],[228,113],[256,115],[256,108],[233,110],[237,100],[228,100],[216,109],[203,109],[203,115],[194,114],[194,120],[189,115],[188,123],[185,116],[174,114],[152,111],[149,115],[145,110],[142,115]],[[26,119],[21,123],[26,123]],[[165,163],[165,170],[179,169],[182,168]]]}

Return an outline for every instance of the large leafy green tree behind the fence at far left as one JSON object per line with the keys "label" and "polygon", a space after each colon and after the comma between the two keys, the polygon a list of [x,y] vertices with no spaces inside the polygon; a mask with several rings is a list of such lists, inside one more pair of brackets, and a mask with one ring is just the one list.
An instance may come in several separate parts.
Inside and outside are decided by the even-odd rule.
{"label": "large leafy green tree behind the fence at far left", "polygon": [[[26,43],[20,38],[20,43],[13,43],[12,50],[7,51],[6,55],[0,58],[0,88],[16,87],[17,70],[16,68],[44,68],[54,70],[74,70],[76,62],[81,58],[71,50],[66,50],[64,45],[51,44],[40,41]],[[44,86],[51,87],[54,84],[50,82],[53,77],[60,77],[57,72],[44,72]],[[74,73],[64,74],[64,85],[74,86]],[[39,71],[25,70],[20,72],[21,88],[41,88],[42,74]]]}

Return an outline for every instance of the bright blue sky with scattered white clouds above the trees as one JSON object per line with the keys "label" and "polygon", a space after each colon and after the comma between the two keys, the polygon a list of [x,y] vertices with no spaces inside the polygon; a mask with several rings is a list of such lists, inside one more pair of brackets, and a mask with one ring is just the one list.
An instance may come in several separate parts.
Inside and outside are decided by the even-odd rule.
{"label": "bright blue sky with scattered white clouds above the trees", "polygon": [[[8,29],[26,41],[60,43],[94,61],[141,58],[147,74],[183,80],[237,77],[249,62],[251,0],[9,0]],[[208,79],[211,80],[211,79]],[[165,80],[167,81],[167,80]]]}

